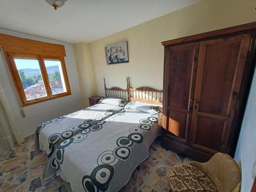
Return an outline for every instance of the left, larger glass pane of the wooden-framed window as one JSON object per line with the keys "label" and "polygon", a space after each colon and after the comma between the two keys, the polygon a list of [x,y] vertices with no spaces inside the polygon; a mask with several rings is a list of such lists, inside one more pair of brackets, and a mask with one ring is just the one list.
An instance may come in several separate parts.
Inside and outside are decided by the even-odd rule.
{"label": "left, larger glass pane of the wooden-framed window", "polygon": [[14,58],[27,100],[46,97],[46,88],[37,59]]}

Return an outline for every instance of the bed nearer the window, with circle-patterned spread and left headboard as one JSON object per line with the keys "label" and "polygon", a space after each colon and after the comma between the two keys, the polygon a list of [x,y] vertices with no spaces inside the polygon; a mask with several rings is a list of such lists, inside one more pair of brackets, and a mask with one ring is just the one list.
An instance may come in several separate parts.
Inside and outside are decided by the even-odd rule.
{"label": "bed nearer the window, with circle-patterned spread and left headboard", "polygon": [[[117,87],[106,89],[109,91],[122,90]],[[56,167],[53,166],[56,146],[62,141],[82,132],[84,129],[87,129],[88,127],[91,127],[94,124],[122,111],[129,98],[127,90],[122,90],[125,93],[124,97],[120,96],[117,99],[116,96],[114,104],[106,102],[106,99],[104,99],[104,102],[100,101],[102,103],[46,121],[37,126],[35,132],[35,155],[40,154],[42,151],[46,151],[48,154],[46,164],[42,172],[42,179],[48,180],[56,173]]]}

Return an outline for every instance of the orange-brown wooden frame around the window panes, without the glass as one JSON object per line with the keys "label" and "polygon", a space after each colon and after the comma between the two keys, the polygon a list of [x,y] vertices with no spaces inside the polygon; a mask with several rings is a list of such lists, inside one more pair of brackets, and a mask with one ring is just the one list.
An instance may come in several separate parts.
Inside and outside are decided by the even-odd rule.
{"label": "orange-brown wooden frame around the window panes, without the glass", "polygon": [[[67,73],[64,57],[62,57],[62,56],[46,56],[46,55],[38,55],[38,54],[14,53],[14,52],[6,52],[5,55],[8,57],[8,61],[9,61],[8,67],[11,72],[11,76],[13,78],[17,93],[20,97],[20,100],[22,101],[22,106],[28,106],[31,104],[40,103],[40,102],[44,102],[47,100],[71,95],[69,78],[68,78],[68,73]],[[34,59],[38,60],[42,80],[44,82],[45,90],[46,90],[46,94],[47,94],[46,97],[40,97],[40,98],[36,98],[36,99],[27,100],[22,82],[21,82],[19,74],[18,74],[18,70],[16,68],[16,64],[14,61],[15,57],[34,58]],[[44,59],[58,59],[60,61],[67,92],[54,94],[54,95],[52,94],[50,81],[49,81],[48,74],[46,71]]]}

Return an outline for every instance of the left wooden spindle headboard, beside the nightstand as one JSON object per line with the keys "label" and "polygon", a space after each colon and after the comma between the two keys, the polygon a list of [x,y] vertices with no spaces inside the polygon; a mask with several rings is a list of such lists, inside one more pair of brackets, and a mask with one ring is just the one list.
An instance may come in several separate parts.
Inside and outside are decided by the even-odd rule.
{"label": "left wooden spindle headboard, beside the nightstand", "polygon": [[104,88],[105,88],[105,97],[113,97],[118,99],[123,99],[127,102],[130,102],[130,92],[128,87],[128,78],[126,77],[127,89],[121,89],[119,87],[106,88],[106,82],[104,78]]}

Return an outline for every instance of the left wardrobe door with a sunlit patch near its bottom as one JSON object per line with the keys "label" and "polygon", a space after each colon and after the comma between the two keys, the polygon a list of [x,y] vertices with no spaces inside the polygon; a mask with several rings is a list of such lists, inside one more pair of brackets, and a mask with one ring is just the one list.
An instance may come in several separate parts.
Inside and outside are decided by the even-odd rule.
{"label": "left wardrobe door with a sunlit patch near its bottom", "polygon": [[165,137],[187,143],[194,99],[199,43],[167,47],[165,50]]}

